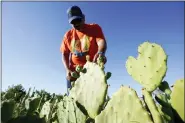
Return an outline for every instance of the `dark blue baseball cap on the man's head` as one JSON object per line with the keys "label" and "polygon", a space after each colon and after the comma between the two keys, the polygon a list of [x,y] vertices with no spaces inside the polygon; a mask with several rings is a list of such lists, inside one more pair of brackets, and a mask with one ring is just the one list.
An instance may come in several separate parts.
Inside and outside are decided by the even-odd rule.
{"label": "dark blue baseball cap on the man's head", "polygon": [[71,23],[74,19],[82,19],[83,13],[78,6],[72,6],[67,10],[68,20]]}

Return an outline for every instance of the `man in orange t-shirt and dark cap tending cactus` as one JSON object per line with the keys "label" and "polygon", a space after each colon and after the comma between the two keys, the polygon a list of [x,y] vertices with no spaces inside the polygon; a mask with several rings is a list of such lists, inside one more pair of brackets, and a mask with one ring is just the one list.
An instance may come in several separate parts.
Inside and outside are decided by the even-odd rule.
{"label": "man in orange t-shirt and dark cap tending cactus", "polygon": [[98,24],[86,24],[85,15],[78,6],[70,7],[67,14],[72,29],[64,35],[60,51],[66,69],[68,93],[71,81],[75,80],[71,77],[71,72],[75,71],[77,65],[83,66],[86,63],[86,55],[90,56],[92,62],[102,56],[106,63],[107,43],[101,27]]}

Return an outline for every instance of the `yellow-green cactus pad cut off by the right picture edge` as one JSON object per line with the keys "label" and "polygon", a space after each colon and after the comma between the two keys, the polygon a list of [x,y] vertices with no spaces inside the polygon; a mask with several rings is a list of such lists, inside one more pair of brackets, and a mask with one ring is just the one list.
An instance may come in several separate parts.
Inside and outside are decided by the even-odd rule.
{"label": "yellow-green cactus pad cut off by the right picture edge", "polygon": [[177,80],[171,93],[171,106],[184,120],[184,79]]}

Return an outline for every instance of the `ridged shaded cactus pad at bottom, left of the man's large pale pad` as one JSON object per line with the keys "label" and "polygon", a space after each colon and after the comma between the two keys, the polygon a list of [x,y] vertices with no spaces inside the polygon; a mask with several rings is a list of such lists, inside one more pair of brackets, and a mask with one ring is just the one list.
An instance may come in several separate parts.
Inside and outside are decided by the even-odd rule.
{"label": "ridged shaded cactus pad at bottom, left of the man's large pale pad", "polygon": [[65,96],[57,107],[59,123],[85,123],[86,116],[80,111],[72,98]]}

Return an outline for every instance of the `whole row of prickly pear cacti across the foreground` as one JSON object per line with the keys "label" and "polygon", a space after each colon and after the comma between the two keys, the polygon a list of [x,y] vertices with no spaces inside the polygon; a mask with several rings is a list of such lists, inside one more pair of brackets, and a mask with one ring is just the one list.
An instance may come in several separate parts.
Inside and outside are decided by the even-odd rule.
{"label": "whole row of prickly pear cacti across the foreground", "polygon": [[126,69],[142,85],[142,98],[124,85],[108,98],[111,73],[105,72],[101,57],[94,63],[87,56],[86,64],[72,73],[76,81],[69,95],[53,95],[42,103],[43,95],[27,94],[21,103],[24,116],[21,111],[15,116],[14,99],[6,100],[1,105],[2,123],[184,123],[184,79],[173,88],[163,80],[168,57],[160,45],[144,42],[138,53],[136,59],[128,57]]}

